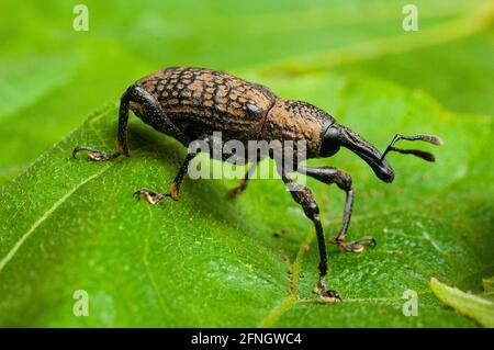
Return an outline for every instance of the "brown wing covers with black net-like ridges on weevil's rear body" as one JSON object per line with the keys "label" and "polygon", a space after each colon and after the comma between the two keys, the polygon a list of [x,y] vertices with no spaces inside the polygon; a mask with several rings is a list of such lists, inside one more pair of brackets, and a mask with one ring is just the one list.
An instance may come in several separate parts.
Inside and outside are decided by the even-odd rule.
{"label": "brown wing covers with black net-like ridges on weevil's rear body", "polygon": [[167,68],[137,84],[154,94],[167,116],[181,127],[194,123],[194,127],[199,124],[249,137],[260,131],[277,100],[261,84],[203,68]]}

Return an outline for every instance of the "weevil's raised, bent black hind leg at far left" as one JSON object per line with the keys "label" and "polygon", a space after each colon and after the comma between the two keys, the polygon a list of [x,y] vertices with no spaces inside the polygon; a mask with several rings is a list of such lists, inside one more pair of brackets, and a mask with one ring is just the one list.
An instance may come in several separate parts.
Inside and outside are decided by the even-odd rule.
{"label": "weevil's raised, bent black hind leg at far left", "polygon": [[98,150],[92,147],[77,146],[76,148],[74,148],[72,157],[75,158],[79,151],[83,150],[87,150],[89,153],[89,159],[93,161],[111,160],[122,155],[128,157],[130,151],[127,146],[127,123],[131,102],[141,104],[143,106],[144,114],[147,117],[157,118],[159,116],[159,120],[161,121],[160,127],[162,128],[162,132],[180,140],[184,145],[189,144],[187,137],[166,116],[165,112],[161,109],[161,105],[155,99],[155,97],[153,97],[149,92],[138,86],[132,86],[124,92],[122,99],[120,100],[119,128],[117,138],[115,142],[116,150],[112,154],[108,154],[103,150]]}

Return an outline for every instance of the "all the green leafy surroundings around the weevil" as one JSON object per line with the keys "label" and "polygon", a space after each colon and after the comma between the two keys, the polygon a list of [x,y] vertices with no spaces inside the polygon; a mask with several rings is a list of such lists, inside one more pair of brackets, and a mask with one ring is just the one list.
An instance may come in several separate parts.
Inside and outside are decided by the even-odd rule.
{"label": "all the green leafy surroundings around the weevil", "polygon": [[[413,1],[419,30],[405,32],[408,2],[94,0],[76,32],[79,1],[0,0],[0,326],[478,326],[429,280],[494,297],[493,2]],[[312,102],[379,149],[396,132],[445,139],[422,145],[435,165],[390,155],[391,187],[349,151],[314,161],[353,178],[349,239],[379,241],[362,255],[328,244],[344,303],[312,293],[314,228],[281,181],[237,201],[237,181],[186,181],[180,202],[137,205],[132,192],[166,189],[186,150],[135,117],[133,157],[70,159],[78,144],[111,148],[121,93],[177,65]],[[308,185],[330,239],[345,194]],[[90,317],[72,314],[79,289]],[[419,317],[402,313],[406,289]]]}

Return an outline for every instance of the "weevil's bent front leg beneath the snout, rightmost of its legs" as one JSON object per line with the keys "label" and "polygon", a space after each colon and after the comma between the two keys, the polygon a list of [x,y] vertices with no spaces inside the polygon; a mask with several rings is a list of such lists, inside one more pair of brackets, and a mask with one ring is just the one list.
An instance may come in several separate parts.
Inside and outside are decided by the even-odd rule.
{"label": "weevil's bent front leg beneath the snout, rightmost of its legs", "polygon": [[336,183],[339,189],[344,190],[347,194],[345,210],[344,210],[344,218],[343,226],[336,236],[334,242],[337,244],[345,250],[361,252],[363,250],[362,244],[369,242],[375,246],[374,237],[362,237],[351,242],[345,242],[345,236],[347,235],[348,226],[350,224],[351,211],[353,207],[353,187],[351,185],[351,177],[335,167],[321,167],[321,168],[305,168],[299,167],[299,172],[305,173],[311,178],[314,178],[321,182],[330,184]]}

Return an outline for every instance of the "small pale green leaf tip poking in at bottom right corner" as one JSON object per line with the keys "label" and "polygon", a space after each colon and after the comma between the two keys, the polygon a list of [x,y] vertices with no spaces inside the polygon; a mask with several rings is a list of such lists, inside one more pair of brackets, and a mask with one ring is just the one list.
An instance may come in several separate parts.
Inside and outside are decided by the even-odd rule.
{"label": "small pale green leaf tip poking in at bottom right corner", "polygon": [[[484,280],[485,281],[485,280]],[[446,305],[474,318],[484,327],[494,327],[494,303],[430,279],[430,289]]]}

